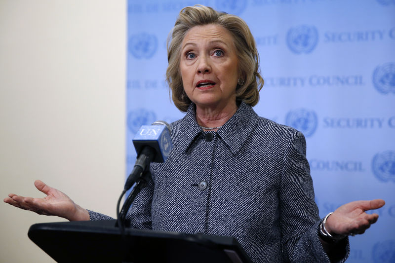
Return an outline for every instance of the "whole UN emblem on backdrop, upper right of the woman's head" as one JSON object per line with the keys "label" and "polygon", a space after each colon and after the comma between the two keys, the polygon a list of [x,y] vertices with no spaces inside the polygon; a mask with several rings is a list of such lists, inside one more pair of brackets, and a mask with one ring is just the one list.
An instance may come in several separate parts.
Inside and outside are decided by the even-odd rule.
{"label": "whole UN emblem on backdrop, upper right of the woman's head", "polygon": [[287,44],[296,54],[312,52],[317,43],[318,31],[314,26],[302,25],[288,30]]}

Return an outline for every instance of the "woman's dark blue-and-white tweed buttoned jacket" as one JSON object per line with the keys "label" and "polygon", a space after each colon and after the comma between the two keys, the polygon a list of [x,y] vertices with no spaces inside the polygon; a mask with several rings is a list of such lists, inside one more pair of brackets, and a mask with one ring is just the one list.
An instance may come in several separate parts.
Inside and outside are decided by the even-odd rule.
{"label": "woman's dark blue-and-white tweed buttoned jacket", "polygon": [[[171,140],[167,161],[151,164],[153,180],[128,212],[133,227],[233,236],[256,263],[330,262],[301,132],[245,103],[217,132],[204,132],[191,104],[171,124]],[[332,262],[344,262],[348,239],[333,251]]]}

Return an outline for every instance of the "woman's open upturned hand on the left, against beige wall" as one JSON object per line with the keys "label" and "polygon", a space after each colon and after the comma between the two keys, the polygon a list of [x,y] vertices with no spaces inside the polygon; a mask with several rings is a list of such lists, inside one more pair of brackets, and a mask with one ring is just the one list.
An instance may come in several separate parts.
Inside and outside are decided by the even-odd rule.
{"label": "woman's open upturned hand on the left, against beige wall", "polygon": [[89,213],[69,196],[58,189],[45,185],[36,180],[34,185],[47,196],[44,198],[24,197],[14,193],[8,194],[4,202],[24,210],[36,212],[39,215],[58,216],[70,221],[89,220]]}

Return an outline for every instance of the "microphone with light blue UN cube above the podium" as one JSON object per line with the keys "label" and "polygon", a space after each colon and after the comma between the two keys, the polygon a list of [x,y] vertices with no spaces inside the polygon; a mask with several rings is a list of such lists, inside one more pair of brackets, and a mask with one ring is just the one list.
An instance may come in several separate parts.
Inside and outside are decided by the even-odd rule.
{"label": "microphone with light blue UN cube above the podium", "polygon": [[137,160],[126,180],[124,189],[127,191],[149,169],[151,162],[165,162],[173,147],[170,140],[170,125],[163,121],[155,121],[151,125],[140,127],[133,139],[137,152]]}

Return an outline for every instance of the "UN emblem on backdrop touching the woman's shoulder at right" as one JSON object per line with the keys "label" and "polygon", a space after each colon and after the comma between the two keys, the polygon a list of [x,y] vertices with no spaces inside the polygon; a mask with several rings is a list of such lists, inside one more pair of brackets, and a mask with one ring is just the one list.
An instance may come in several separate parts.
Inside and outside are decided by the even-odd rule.
{"label": "UN emblem on backdrop touching the woman's shoulder at right", "polygon": [[306,137],[309,137],[316,131],[318,118],[314,111],[298,109],[287,113],[285,125],[294,127],[301,131]]}

